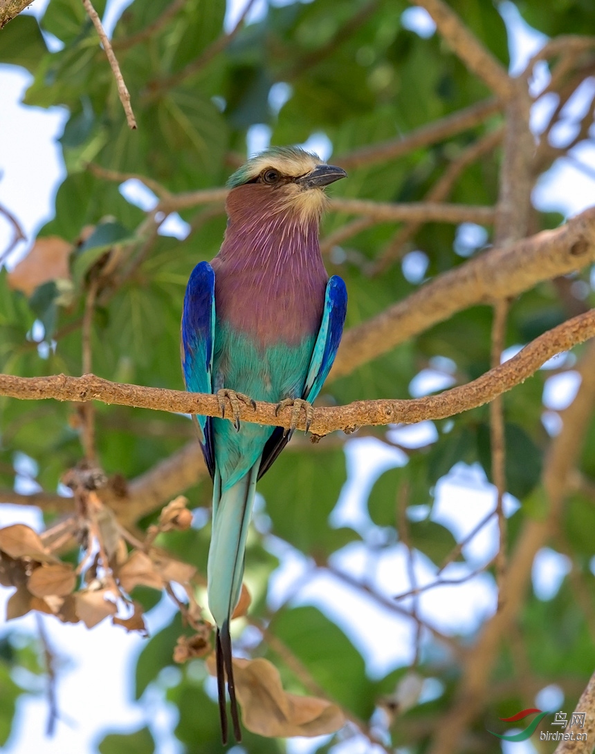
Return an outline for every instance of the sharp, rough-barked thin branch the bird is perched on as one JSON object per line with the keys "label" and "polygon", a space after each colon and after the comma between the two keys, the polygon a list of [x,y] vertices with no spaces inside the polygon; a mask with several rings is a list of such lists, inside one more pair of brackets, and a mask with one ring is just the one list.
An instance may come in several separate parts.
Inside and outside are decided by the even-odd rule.
{"label": "sharp, rough-barked thin branch the bird is perched on", "polygon": [[[359,400],[347,406],[324,406],[314,410],[313,435],[319,437],[342,429],[348,434],[362,425],[388,425],[393,422],[415,424],[426,419],[446,418],[482,406],[514,385],[519,385],[543,363],[572,346],[595,336],[595,309],[554,327],[526,345],[523,351],[467,385],[413,400]],[[0,375],[0,395],[24,400],[72,400],[85,403],[100,400],[120,406],[159,411],[220,416],[217,397],[211,394],[186,393],[164,388],[143,388],[83,375],[67,377],[14,377]],[[291,407],[276,415],[274,403],[256,402],[256,410],[240,405],[239,418],[251,423],[288,428]],[[305,428],[304,418],[298,429]]]}

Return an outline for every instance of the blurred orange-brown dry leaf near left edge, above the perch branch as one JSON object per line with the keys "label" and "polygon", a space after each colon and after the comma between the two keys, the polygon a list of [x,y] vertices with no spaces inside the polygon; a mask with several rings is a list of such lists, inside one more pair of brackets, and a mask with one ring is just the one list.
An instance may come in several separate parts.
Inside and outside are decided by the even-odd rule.
{"label": "blurred orange-brown dry leaf near left edge, above the perch branch", "polygon": [[72,244],[60,236],[38,238],[27,256],[8,273],[8,285],[31,296],[35,288],[60,278],[69,280],[68,258]]}

